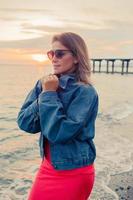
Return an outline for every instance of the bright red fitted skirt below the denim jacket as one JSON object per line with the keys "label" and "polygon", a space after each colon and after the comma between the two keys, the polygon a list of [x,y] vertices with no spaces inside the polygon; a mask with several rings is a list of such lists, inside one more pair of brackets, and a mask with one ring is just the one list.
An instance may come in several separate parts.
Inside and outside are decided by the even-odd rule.
{"label": "bright red fitted skirt below the denim jacket", "polygon": [[28,200],[87,200],[94,185],[94,164],[72,170],[51,165],[49,144],[32,185]]}

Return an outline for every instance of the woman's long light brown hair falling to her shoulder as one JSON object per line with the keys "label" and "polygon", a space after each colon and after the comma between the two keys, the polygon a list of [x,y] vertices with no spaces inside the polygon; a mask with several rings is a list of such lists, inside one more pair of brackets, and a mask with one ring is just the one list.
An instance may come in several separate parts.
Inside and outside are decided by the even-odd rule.
{"label": "woman's long light brown hair falling to her shoulder", "polygon": [[74,56],[76,56],[78,60],[78,63],[75,64],[77,81],[92,85],[90,59],[88,49],[83,38],[76,33],[64,32],[54,35],[52,43],[55,41],[61,42],[61,44],[71,50]]}

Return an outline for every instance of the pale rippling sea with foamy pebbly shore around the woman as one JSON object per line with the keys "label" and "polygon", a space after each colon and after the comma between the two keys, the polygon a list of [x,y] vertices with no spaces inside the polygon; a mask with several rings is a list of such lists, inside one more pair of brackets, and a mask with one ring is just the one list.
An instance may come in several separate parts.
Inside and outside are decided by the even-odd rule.
{"label": "pale rippling sea with foamy pebbly shore around the woman", "polygon": [[[27,200],[41,164],[39,134],[21,131],[16,117],[44,71],[40,66],[2,66],[0,109],[0,200]],[[94,143],[96,178],[90,200],[133,199],[132,74],[92,74],[99,94]]]}

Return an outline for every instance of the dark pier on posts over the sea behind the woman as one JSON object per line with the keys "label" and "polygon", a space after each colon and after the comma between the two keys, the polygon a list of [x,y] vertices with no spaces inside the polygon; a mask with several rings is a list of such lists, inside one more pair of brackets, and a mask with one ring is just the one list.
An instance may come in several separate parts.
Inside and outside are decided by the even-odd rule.
{"label": "dark pier on posts over the sea behind the woman", "polygon": [[[123,74],[133,74],[133,63],[132,66],[129,64],[133,61],[133,58],[93,58],[92,61],[92,72],[105,72],[105,73],[121,73]],[[102,63],[104,62],[104,66]],[[118,63],[119,62],[119,65]],[[117,63],[117,66],[115,65]],[[98,67],[98,70],[96,69]],[[103,71],[103,68],[105,70]],[[111,70],[110,70],[111,68]],[[119,71],[117,70],[119,68]],[[130,69],[130,70],[129,70]]]}

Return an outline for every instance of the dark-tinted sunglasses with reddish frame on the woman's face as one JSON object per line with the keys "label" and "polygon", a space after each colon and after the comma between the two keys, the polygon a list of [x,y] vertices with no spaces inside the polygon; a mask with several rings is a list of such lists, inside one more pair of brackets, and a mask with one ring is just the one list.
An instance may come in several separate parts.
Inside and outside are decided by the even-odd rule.
{"label": "dark-tinted sunglasses with reddish frame on the woman's face", "polygon": [[61,59],[63,58],[64,55],[66,55],[67,53],[71,53],[73,54],[73,51],[71,50],[66,50],[66,49],[57,49],[57,50],[50,50],[47,52],[47,56],[50,60],[53,59],[54,55],[56,58]]}

